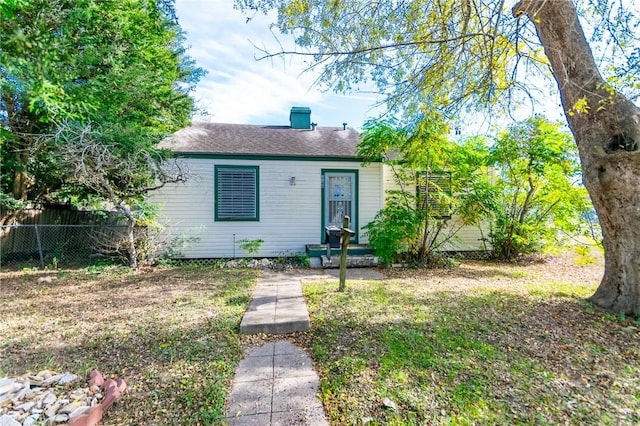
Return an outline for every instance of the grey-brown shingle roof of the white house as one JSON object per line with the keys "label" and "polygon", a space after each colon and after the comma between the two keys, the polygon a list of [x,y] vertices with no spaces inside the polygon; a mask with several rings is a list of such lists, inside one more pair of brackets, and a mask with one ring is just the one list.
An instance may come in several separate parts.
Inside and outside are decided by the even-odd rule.
{"label": "grey-brown shingle roof of the white house", "polygon": [[352,128],[193,123],[159,145],[182,154],[355,158],[360,135]]}

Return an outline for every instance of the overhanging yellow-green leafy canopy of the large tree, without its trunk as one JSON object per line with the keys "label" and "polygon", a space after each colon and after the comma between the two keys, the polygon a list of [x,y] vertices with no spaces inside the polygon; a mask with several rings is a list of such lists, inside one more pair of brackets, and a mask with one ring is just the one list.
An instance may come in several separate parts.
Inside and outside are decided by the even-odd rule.
{"label": "overhanging yellow-green leafy canopy of the large tree, without its trunk", "polygon": [[[236,0],[245,12],[276,9],[275,25],[293,35],[295,52],[322,67],[319,82],[337,91],[373,83],[392,109],[461,107],[522,101],[531,79],[548,76],[533,29],[513,18],[504,0]],[[627,2],[632,3],[632,2]],[[640,16],[625,2],[578,1],[609,82],[640,94]]]}

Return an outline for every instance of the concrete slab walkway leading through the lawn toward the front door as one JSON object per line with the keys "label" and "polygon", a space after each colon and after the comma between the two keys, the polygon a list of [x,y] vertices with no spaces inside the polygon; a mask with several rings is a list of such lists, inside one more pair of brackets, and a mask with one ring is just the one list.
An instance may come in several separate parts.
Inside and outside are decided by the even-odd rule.
{"label": "concrete slab walkway leading through the lawn toward the front door", "polygon": [[[242,317],[240,332],[287,334],[308,330],[302,277],[263,272]],[[304,351],[288,340],[265,343],[249,351],[236,369],[227,399],[226,422],[232,426],[329,425],[318,399],[319,389],[313,361]]]}

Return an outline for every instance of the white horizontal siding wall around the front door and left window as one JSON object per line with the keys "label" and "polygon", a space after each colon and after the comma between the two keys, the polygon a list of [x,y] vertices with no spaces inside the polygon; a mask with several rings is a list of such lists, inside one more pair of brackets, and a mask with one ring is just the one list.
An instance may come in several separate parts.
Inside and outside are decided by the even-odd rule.
{"label": "white horizontal siding wall around the front door and left window", "polygon": [[[362,227],[382,207],[381,165],[365,168],[356,162],[183,159],[188,166],[186,183],[168,185],[150,194],[160,206],[160,220],[166,225],[165,238],[195,236],[199,240],[182,254],[187,258],[248,256],[238,240],[262,239],[258,257],[303,253],[305,244],[318,244],[322,236],[322,169],[358,170],[359,219]],[[257,222],[216,222],[214,205],[215,165],[259,166],[260,220]],[[295,176],[296,184],[289,178]],[[361,230],[359,242],[366,237]]]}

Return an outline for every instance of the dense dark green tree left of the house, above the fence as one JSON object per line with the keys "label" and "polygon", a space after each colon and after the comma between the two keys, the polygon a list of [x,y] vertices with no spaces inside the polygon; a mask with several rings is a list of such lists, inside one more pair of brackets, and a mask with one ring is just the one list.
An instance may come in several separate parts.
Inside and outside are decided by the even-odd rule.
{"label": "dense dark green tree left of the house, above the fence", "polygon": [[[158,164],[140,153],[188,123],[202,74],[185,55],[172,1],[4,0],[0,16],[3,197],[109,199],[77,175],[83,162],[104,160],[90,158],[98,152],[119,160],[94,172],[121,201],[138,197]],[[85,140],[68,136],[81,128],[92,129],[84,153]],[[81,155],[70,163],[68,152]]]}

